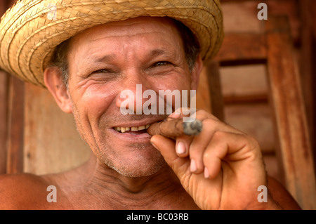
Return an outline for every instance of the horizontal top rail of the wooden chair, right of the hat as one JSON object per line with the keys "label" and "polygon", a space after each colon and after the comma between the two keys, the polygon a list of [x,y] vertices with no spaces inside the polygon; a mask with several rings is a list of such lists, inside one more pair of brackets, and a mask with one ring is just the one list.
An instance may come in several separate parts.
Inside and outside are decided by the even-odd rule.
{"label": "horizontal top rail of the wooden chair, right of the hat", "polygon": [[215,60],[223,62],[265,60],[267,56],[264,34],[229,33],[225,34],[223,45]]}

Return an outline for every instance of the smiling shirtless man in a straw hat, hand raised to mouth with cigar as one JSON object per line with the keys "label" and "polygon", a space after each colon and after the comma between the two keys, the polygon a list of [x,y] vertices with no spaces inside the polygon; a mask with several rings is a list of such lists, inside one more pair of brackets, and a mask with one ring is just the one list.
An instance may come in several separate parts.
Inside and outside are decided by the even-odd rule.
{"label": "smiling shirtless man in a straw hat, hand raised to mouth with cigar", "polygon": [[[115,4],[103,4],[103,8],[110,8],[107,9],[110,13],[117,6],[126,6],[124,2]],[[148,8],[149,4],[152,3],[139,1],[140,8]],[[159,4],[162,3],[154,7],[169,7],[170,10],[169,5]],[[173,1],[169,4],[172,5]],[[217,2],[206,1],[206,5],[210,12],[216,14]],[[61,6],[56,5],[56,8]],[[195,3],[190,6],[188,1],[180,1],[178,10],[180,6],[201,8]],[[58,23],[58,11],[56,13],[55,24]],[[20,58],[19,61],[13,57],[10,61],[10,57],[5,58],[5,53],[1,53],[4,61],[1,65],[6,70],[27,81],[44,82],[61,110],[74,115],[79,134],[93,153],[86,164],[65,173],[1,176],[0,208],[298,209],[289,193],[266,176],[256,140],[224,124],[212,114],[197,110],[195,119],[202,121],[202,132],[197,136],[171,139],[161,135],[150,136],[143,127],[167,117],[178,119],[184,116],[183,113],[121,113],[125,100],[121,98],[121,92],[130,90],[137,94],[136,85],[139,84],[142,93],[149,89],[157,93],[159,90],[196,89],[203,60],[216,51],[222,38],[221,28],[217,31],[215,28],[221,27],[220,13],[214,15],[217,25],[208,25],[212,36],[209,44],[199,33],[204,30],[202,25],[199,25],[198,32],[190,22],[187,25],[192,25],[190,29],[197,35],[199,43],[188,43],[195,42],[194,34],[188,32],[181,22],[170,18],[173,14],[177,18],[173,11],[163,17],[154,11],[138,13],[135,10],[133,15],[128,15],[131,18],[112,18],[112,21],[90,27],[81,25],[84,27],[81,32],[73,35],[55,32],[60,36],[68,35],[63,37],[62,44],[57,48],[57,41],[55,46],[52,44],[53,35],[51,39],[42,37],[39,44],[29,48],[27,44],[21,44],[17,52],[32,52],[26,57],[28,59]],[[196,16],[199,17],[199,14]],[[90,20],[84,21],[92,18],[96,19],[91,15]],[[70,27],[70,23],[67,25]],[[29,32],[33,35],[29,38],[37,35],[36,32]],[[46,29],[49,36],[47,33]],[[9,34],[1,37],[11,37],[11,41],[15,38]],[[45,65],[44,59],[41,62],[29,59],[45,42],[46,48],[51,46],[55,49],[51,62]],[[187,44],[193,46],[188,47]],[[195,52],[192,49],[198,49],[199,45],[200,51],[192,55]],[[14,55],[10,47],[5,51],[7,55]],[[23,60],[28,60],[28,68],[21,66]],[[19,69],[12,66],[14,62],[20,65]],[[39,74],[31,62],[43,63],[43,74]],[[137,105],[134,100],[134,105]],[[144,103],[143,99],[141,104]],[[127,109],[136,110],[136,106]],[[124,131],[119,131],[122,129]],[[55,203],[47,200],[49,185],[56,187]],[[265,202],[258,199],[260,186],[268,186],[269,189]]]}

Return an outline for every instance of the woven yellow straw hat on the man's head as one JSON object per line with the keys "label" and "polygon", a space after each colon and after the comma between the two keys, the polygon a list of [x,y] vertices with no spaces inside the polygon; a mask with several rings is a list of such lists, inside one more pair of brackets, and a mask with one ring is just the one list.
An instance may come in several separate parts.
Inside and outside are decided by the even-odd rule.
{"label": "woven yellow straw hat on the man's head", "polygon": [[204,61],[223,39],[218,0],[21,0],[1,18],[0,67],[44,86],[55,46],[89,27],[142,15],[168,16],[190,27]]}

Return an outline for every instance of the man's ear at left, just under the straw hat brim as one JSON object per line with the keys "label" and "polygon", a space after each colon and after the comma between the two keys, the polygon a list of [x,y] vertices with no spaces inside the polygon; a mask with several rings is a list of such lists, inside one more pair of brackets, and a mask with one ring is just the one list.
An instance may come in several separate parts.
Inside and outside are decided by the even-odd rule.
{"label": "man's ear at left, just under the straw hat brim", "polygon": [[61,71],[58,67],[47,67],[45,69],[44,83],[60,109],[63,112],[72,113],[72,101],[67,91],[67,86],[62,81]]}

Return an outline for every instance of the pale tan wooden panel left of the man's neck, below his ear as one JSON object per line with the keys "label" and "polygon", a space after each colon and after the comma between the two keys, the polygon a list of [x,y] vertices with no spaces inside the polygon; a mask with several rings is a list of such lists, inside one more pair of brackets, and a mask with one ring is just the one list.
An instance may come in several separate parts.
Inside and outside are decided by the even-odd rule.
{"label": "pale tan wooden panel left of the man's neck, below his ear", "polygon": [[73,169],[91,152],[72,114],[62,112],[47,89],[32,84],[25,84],[24,147],[24,171],[36,175]]}

